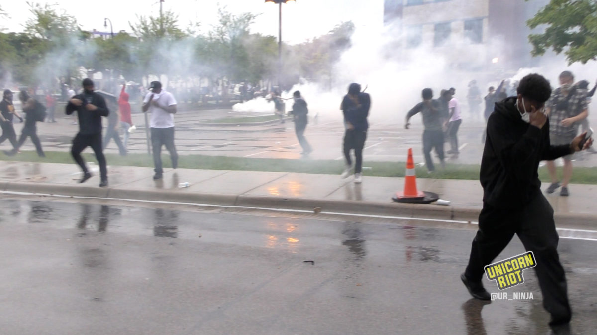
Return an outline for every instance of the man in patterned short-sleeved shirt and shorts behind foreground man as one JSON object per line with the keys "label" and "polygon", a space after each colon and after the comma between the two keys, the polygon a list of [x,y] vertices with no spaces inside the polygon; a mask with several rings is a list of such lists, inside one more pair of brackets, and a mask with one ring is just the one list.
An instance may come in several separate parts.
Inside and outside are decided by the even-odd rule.
{"label": "man in patterned short-sleeved shirt and shorts behind foreground man", "polygon": [[[556,88],[552,97],[547,101],[546,110],[549,114],[549,136],[553,144],[567,144],[576,137],[578,125],[589,115],[587,109],[587,92],[578,89],[574,84],[574,76],[569,71],[564,71],[559,76],[560,86]],[[561,184],[553,160],[547,161],[547,171],[552,179],[552,184],[547,187],[547,193],[553,193],[562,186],[560,196],[568,196],[568,182],[572,177],[572,155],[564,156]]]}

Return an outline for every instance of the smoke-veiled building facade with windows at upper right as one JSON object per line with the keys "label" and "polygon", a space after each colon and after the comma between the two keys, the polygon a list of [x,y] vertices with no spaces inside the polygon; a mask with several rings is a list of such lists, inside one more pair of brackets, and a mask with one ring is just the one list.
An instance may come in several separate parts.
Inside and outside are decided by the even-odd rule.
{"label": "smoke-veiled building facade with windows at upper right", "polygon": [[512,70],[536,63],[526,21],[549,0],[384,0],[402,54],[427,48],[463,70]]}

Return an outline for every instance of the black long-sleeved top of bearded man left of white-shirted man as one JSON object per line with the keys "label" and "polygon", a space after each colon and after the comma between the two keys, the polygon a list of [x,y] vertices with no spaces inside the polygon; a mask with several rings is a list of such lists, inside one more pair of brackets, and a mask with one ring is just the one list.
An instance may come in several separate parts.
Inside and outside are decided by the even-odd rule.
{"label": "black long-sleeved top of bearded man left of white-shirted man", "polygon": [[[75,106],[70,101],[66,105],[66,114],[70,115],[76,110],[79,118],[79,133],[83,135],[101,134],[101,117],[110,114],[104,98],[95,92],[91,95],[77,94],[72,98],[83,101],[81,106]],[[87,110],[85,105],[88,101],[97,106],[97,110]]]}

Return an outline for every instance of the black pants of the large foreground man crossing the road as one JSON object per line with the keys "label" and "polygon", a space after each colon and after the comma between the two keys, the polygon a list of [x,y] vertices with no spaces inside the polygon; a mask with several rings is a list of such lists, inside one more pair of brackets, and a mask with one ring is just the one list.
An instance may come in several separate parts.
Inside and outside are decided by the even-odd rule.
{"label": "black pants of the large foreground man crossing the road", "polygon": [[[481,281],[484,266],[490,264],[518,235],[525,249],[533,251],[534,267],[543,294],[543,307],[552,320],[567,321],[571,317],[564,268],[556,248],[558,232],[553,222],[553,209],[540,190],[522,209],[503,210],[483,204],[479,215],[479,230],[470,249],[466,277]],[[514,255],[504,255],[504,258]],[[526,272],[524,275],[528,275]]]}

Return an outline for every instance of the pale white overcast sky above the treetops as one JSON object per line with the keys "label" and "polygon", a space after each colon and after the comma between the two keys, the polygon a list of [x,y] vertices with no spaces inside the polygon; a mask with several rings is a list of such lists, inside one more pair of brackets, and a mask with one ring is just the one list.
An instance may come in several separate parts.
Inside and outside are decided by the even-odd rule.
{"label": "pale white overcast sky above the treetops", "polygon": [[[35,1],[40,4],[56,4],[56,10],[73,15],[83,30],[97,29],[110,32],[110,24],[104,27],[104,18],[112,21],[114,32],[130,32],[129,21],[136,22],[136,15],[159,15],[158,0],[101,0],[101,1]],[[165,0],[163,10],[179,15],[180,27],[187,23],[201,22],[202,32],[217,24],[218,7],[226,7],[233,14],[260,14],[252,32],[278,36],[278,6],[265,4],[264,0]],[[9,17],[0,21],[5,32],[21,32],[32,14],[26,1],[0,1],[2,10]],[[352,21],[357,29],[378,30],[383,25],[383,0],[296,0],[282,4],[282,39],[298,44],[329,32],[343,21]]]}

